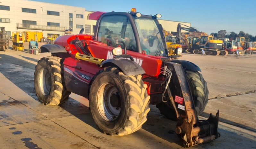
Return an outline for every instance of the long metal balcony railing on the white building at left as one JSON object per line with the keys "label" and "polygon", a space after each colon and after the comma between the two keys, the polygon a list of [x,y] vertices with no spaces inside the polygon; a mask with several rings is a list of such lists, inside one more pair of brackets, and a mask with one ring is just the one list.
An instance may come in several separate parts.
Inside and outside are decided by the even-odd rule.
{"label": "long metal balcony railing on the white building at left", "polygon": [[17,29],[37,29],[37,30],[49,30],[49,31],[65,31],[66,27],[54,27],[45,25],[32,25],[17,23]]}

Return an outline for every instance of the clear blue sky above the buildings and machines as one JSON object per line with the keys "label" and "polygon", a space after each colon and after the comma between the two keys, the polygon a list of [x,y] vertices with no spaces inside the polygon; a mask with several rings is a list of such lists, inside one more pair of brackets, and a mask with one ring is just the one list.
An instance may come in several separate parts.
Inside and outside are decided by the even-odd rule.
{"label": "clear blue sky above the buildings and machines", "polygon": [[190,22],[208,34],[226,30],[256,35],[255,0],[33,0],[84,7],[88,11],[128,12],[132,7],[145,15],[160,13],[163,20]]}

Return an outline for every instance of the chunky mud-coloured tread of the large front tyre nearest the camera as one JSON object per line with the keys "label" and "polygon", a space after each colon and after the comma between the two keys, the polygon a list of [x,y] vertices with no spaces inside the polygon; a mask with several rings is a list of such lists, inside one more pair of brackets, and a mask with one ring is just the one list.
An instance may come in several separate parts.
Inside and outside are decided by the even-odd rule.
{"label": "chunky mud-coloured tread of the large front tyre nearest the camera", "polygon": [[105,67],[99,73],[101,72],[112,72],[115,74],[123,82],[128,99],[127,116],[122,128],[115,132],[104,132],[104,130],[103,132],[110,136],[124,136],[139,130],[142,124],[147,121],[147,114],[150,110],[150,96],[147,93],[147,85],[142,81],[142,76],[125,75],[116,67]]}

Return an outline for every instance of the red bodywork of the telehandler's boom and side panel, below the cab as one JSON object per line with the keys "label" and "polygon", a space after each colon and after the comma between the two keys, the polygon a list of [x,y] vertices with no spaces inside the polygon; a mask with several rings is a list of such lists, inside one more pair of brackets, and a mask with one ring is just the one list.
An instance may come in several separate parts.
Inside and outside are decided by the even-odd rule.
{"label": "red bodywork of the telehandler's boom and side panel, below the cab", "polygon": [[[77,52],[81,54],[84,54],[84,52],[75,44],[72,44],[74,40],[80,40],[83,41],[84,44],[86,43],[92,57],[96,57],[98,59],[113,59],[114,56],[112,55],[111,51],[114,47],[107,46],[105,43],[94,41],[90,35],[82,34],[64,35],[55,40],[55,44],[65,47],[65,49],[71,55],[71,57],[64,60],[64,73],[69,74],[70,77],[73,77],[72,79],[70,79],[70,77],[65,78],[67,90],[87,97],[87,93],[84,93],[84,90],[88,90],[93,76],[95,76],[101,68],[99,68],[97,64],[75,59],[75,54]],[[163,86],[161,85],[161,80],[163,80],[163,78],[159,77],[159,74],[160,67],[162,66],[161,58],[164,57],[156,57],[146,55],[145,52],[138,53],[134,51],[127,51],[127,54],[131,55],[134,61],[145,70],[146,73],[143,75],[143,81],[148,85],[148,94],[161,93],[163,91]],[[74,79],[77,80],[77,82],[70,82]],[[74,86],[76,83],[83,84],[80,86],[79,90]]]}

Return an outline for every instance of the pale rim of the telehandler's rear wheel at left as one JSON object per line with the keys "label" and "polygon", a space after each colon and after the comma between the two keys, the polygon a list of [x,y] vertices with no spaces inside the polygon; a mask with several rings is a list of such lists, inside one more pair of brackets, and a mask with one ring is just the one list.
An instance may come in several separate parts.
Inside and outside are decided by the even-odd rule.
{"label": "pale rim of the telehandler's rear wheel at left", "polygon": [[39,72],[39,88],[43,95],[48,95],[51,91],[52,81],[47,69],[43,68]]}

